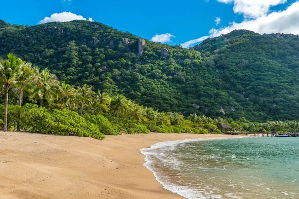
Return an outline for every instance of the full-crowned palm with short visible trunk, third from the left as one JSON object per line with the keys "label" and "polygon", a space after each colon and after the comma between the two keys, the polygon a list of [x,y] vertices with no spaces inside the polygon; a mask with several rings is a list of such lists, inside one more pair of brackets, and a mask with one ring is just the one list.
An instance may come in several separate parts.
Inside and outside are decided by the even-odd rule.
{"label": "full-crowned palm with short visible trunk, third from the left", "polygon": [[40,106],[43,106],[43,99],[51,102],[57,98],[59,93],[59,82],[55,75],[51,74],[49,69],[44,69],[35,77],[36,88],[34,96],[40,100]]}

